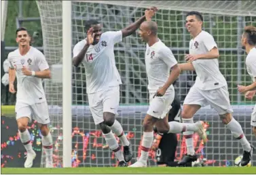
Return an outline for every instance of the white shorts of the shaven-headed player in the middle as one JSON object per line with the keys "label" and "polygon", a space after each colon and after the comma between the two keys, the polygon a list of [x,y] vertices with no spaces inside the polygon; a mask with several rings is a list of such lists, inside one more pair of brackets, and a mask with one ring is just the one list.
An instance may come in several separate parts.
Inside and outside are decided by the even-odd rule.
{"label": "white shorts of the shaven-headed player in the middle", "polygon": [[156,93],[149,94],[149,109],[147,114],[154,118],[164,118],[172,109],[172,101],[175,99],[175,91],[165,94],[163,97],[154,97]]}

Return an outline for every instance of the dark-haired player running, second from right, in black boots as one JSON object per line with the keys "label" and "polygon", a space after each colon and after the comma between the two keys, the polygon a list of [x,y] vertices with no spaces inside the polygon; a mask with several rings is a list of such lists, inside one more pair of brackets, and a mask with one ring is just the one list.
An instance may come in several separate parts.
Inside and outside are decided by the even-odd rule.
{"label": "dark-haired player running, second from right, in black boots", "polygon": [[[247,141],[240,124],[232,117],[227,82],[219,71],[219,51],[213,36],[202,30],[202,15],[198,11],[190,11],[186,18],[186,27],[193,39],[189,43],[188,61],[179,64],[181,70],[196,70],[196,82],[185,97],[181,117],[185,123],[193,123],[193,116],[201,106],[211,105],[219,114],[223,124],[238,139],[244,149],[242,166],[251,160],[249,156],[253,147]],[[193,132],[183,132],[187,145],[187,155],[179,162],[179,166],[189,161],[196,161]]]}

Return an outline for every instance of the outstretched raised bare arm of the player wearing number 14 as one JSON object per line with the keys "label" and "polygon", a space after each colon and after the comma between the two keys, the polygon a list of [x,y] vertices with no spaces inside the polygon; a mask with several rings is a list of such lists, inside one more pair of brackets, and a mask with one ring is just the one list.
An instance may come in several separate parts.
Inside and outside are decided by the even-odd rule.
{"label": "outstretched raised bare arm of the player wearing number 14", "polygon": [[130,24],[130,26],[122,29],[123,38],[134,33],[139,28],[141,23],[143,23],[145,20],[147,21],[151,20],[151,18],[154,16],[157,10],[158,10],[157,7],[150,7],[149,9],[146,9],[144,16],[139,18],[139,20],[136,20],[136,22]]}

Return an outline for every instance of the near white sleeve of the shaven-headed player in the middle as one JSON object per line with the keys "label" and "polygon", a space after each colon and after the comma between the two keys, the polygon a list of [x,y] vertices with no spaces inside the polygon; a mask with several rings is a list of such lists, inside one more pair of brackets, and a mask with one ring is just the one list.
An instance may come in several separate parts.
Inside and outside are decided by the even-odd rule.
{"label": "near white sleeve of the shaven-headed player in the middle", "polygon": [[172,66],[178,64],[175,56],[172,54],[172,51],[168,47],[160,49],[159,57],[164,61],[165,64],[167,64],[169,68],[172,68]]}

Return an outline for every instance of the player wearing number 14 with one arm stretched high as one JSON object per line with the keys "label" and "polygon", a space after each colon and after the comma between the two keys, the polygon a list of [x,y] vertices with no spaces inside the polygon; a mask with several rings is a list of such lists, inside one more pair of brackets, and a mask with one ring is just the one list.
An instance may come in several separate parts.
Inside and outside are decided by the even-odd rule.
{"label": "player wearing number 14 with one arm stretched high", "polygon": [[[117,32],[102,33],[99,22],[90,20],[86,25],[87,38],[77,43],[73,49],[74,66],[83,62],[86,68],[86,91],[94,123],[99,124],[105,141],[119,160],[119,166],[127,166],[126,162],[132,159],[132,152],[130,141],[126,138],[120,122],[115,120],[122,81],[115,66],[113,48],[115,43],[134,33],[146,18],[152,18],[156,10],[156,7],[147,9],[145,16]],[[120,138],[124,155],[111,130]]]}

